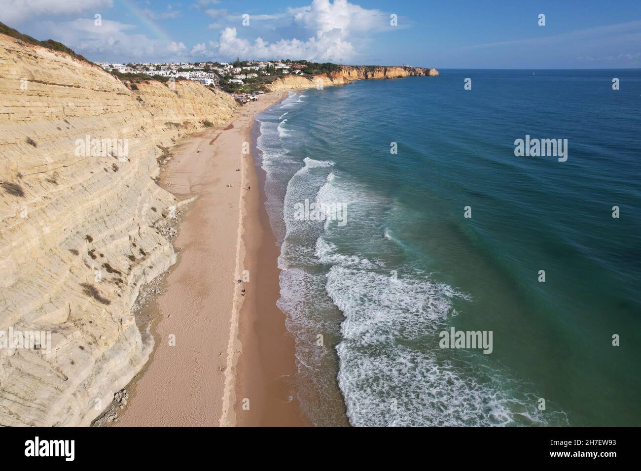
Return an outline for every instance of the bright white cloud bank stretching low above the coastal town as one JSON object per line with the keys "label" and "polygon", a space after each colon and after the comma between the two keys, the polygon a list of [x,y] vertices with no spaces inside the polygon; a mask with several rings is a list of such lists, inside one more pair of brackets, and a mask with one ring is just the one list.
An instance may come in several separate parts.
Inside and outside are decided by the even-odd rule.
{"label": "bright white cloud bank stretching low above the coastal town", "polygon": [[[4,0],[0,0],[2,2]],[[12,0],[17,2],[19,0]],[[33,0],[21,0],[23,2]],[[74,3],[76,0],[69,0]],[[107,0],[83,0],[96,4]],[[111,0],[109,0],[111,1]],[[48,3],[42,0],[42,4]],[[238,57],[247,59],[294,58],[319,62],[350,62],[365,49],[375,33],[394,30],[389,15],[379,10],[367,10],[347,0],[313,0],[301,8],[288,8],[274,14],[251,15],[249,27],[240,26],[240,15],[229,15],[225,9],[209,8],[212,1],[192,6],[215,19],[209,29],[219,29],[217,42],[204,40],[191,47],[183,42],[151,39],[136,33],[137,27],[104,19],[94,26],[94,19],[38,21],[35,29],[42,37],[53,37],[80,54],[94,60],[178,60],[195,56],[217,60]],[[53,4],[53,2],[52,2]],[[178,13],[167,8],[165,13]],[[160,15],[162,13],[154,13]],[[238,25],[238,28],[229,26]],[[224,26],[228,26],[224,28]],[[297,31],[289,38],[268,40],[278,31]],[[253,35],[253,36],[252,36]],[[282,34],[280,35],[282,37]]]}

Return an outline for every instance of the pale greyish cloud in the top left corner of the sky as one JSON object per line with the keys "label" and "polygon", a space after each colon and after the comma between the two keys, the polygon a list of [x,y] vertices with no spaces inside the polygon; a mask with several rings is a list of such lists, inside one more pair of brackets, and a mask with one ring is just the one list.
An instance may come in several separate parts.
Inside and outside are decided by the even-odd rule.
{"label": "pale greyish cloud in the top left corner of the sky", "polygon": [[39,16],[100,13],[112,4],[113,0],[0,0],[0,21],[11,26]]}

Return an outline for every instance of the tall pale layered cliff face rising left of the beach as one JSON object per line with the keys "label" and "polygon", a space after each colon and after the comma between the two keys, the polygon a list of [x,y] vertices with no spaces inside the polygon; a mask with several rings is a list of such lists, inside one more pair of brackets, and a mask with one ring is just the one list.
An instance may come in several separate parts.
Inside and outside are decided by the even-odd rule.
{"label": "tall pale layered cliff face rising left of the beach", "polygon": [[0,335],[51,333],[48,352],[0,338],[0,425],[86,426],[146,363],[131,306],[176,260],[158,158],[236,112],[199,83],[132,87],[0,35]]}

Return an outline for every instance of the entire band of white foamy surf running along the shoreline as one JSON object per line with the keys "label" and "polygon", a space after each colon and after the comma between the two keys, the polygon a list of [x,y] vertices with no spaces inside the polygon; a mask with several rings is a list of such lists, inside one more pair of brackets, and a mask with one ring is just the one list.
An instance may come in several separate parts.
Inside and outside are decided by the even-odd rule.
{"label": "entire band of white foamy surf running along the shoreline", "polygon": [[[281,122],[281,112],[261,122],[258,144],[266,187],[280,192],[268,191],[270,216],[285,220],[278,306],[296,340],[299,374],[315,388],[298,392],[312,422],[322,424],[329,410],[339,415],[342,408],[333,392],[335,356],[331,347],[315,343],[322,333],[340,340],[338,383],[354,426],[563,424],[549,402],[540,413],[531,388],[492,359],[438,348],[438,331],[456,315],[454,305],[470,298],[411,267],[388,266],[385,260],[401,258],[404,245],[385,215],[402,213],[402,207],[331,168],[331,160],[308,157],[300,167],[300,157],[283,148],[293,139],[288,134],[297,132],[288,129],[285,115],[294,122],[296,108],[305,104],[301,97],[291,93],[283,102],[289,110]],[[304,199],[347,203],[349,223],[339,228],[294,220],[293,204]],[[307,393],[310,402],[304,401]]]}

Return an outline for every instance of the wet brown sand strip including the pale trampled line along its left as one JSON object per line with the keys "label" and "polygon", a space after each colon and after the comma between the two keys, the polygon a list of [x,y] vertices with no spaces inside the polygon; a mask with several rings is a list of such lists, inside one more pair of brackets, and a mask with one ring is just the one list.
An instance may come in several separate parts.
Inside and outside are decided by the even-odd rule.
{"label": "wet brown sand strip including the pale trampled line along its left", "polygon": [[236,290],[234,331],[229,335],[226,396],[221,426],[305,426],[308,422],[296,400],[290,399],[285,378],[296,372],[294,340],[285,315],[276,306],[280,297],[276,238],[265,208],[265,175],[256,155],[254,128],[258,113],[276,106],[288,92],[254,113],[245,129],[249,154],[243,161],[246,185],[254,186],[242,198],[238,227],[237,273],[243,279]]}

